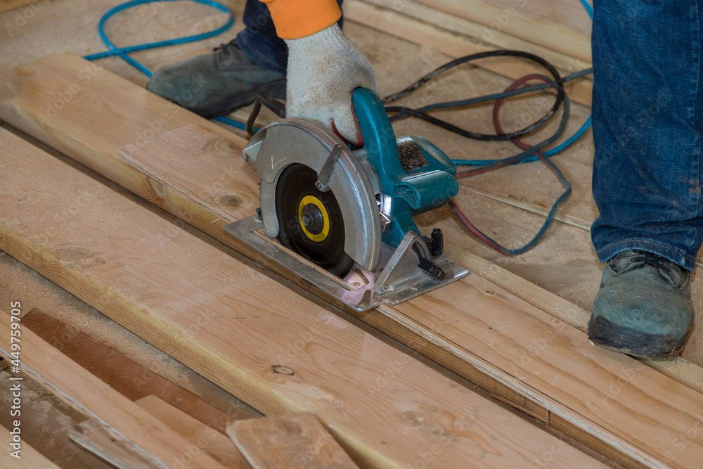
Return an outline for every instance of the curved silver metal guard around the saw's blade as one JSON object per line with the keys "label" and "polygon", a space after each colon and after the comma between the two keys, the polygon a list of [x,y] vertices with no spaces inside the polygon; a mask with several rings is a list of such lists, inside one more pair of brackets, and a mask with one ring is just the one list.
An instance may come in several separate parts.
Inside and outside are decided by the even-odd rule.
{"label": "curved silver metal guard around the saw's blade", "polygon": [[[324,179],[344,218],[344,252],[370,271],[381,254],[381,225],[375,193],[352,150],[314,120],[291,118],[273,122],[255,134],[242,153],[262,178],[261,210],[266,236],[276,238],[276,185],[280,173],[294,163],[311,167]],[[331,157],[331,158],[330,158]]]}

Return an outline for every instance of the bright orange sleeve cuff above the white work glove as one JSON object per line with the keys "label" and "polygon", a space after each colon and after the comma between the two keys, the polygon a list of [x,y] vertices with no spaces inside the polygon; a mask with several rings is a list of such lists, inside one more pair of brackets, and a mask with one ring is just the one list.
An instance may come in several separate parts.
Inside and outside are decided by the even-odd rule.
{"label": "bright orange sleeve cuff above the white work glove", "polygon": [[271,11],[280,39],[300,39],[337,23],[342,10],[336,0],[261,0]]}

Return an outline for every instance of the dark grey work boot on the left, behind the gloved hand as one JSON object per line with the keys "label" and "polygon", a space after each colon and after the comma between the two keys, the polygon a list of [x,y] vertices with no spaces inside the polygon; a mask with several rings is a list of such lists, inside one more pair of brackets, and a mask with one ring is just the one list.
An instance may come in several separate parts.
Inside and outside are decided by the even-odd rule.
{"label": "dark grey work boot on the left, behind the gloved hand", "polygon": [[253,103],[259,91],[285,100],[285,73],[256,65],[234,39],[156,70],[146,89],[209,119]]}

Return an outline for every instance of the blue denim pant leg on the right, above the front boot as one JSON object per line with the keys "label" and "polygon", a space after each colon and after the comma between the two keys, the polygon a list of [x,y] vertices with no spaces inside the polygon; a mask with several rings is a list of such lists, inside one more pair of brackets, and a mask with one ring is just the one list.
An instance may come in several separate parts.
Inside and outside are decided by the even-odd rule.
{"label": "blue denim pant leg on the right, above the front boot", "polygon": [[591,237],[693,270],[703,241],[703,0],[594,0]]}

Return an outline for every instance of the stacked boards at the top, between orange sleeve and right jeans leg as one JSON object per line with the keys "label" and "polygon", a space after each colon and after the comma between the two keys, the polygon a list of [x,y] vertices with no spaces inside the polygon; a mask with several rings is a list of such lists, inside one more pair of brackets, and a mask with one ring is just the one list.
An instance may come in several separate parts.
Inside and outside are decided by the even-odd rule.
{"label": "stacked boards at the top, between orange sleeve and right jeans leg", "polygon": [[[578,0],[349,0],[350,20],[416,44],[434,46],[453,57],[511,49],[541,56],[562,76],[591,67],[590,18]],[[572,14],[567,14],[564,10]],[[531,14],[535,16],[531,16]],[[568,19],[576,23],[564,26]],[[513,79],[544,73],[527,60],[491,58],[477,62],[487,70]],[[565,86],[574,101],[591,105],[593,79]]]}

